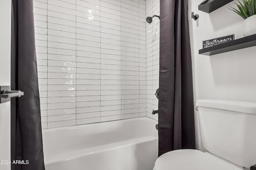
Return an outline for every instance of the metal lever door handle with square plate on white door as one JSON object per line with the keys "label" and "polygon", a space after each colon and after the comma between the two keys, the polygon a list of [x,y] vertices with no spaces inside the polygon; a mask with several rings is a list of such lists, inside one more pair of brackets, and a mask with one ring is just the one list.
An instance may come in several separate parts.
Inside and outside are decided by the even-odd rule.
{"label": "metal lever door handle with square plate on white door", "polygon": [[20,90],[10,90],[10,86],[0,86],[0,103],[9,102],[10,98],[19,98],[24,96]]}

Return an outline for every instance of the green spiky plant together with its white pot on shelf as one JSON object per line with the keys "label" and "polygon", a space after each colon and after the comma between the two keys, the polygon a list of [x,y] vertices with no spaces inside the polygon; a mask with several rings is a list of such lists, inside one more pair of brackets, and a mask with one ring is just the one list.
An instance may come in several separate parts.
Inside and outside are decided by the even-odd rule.
{"label": "green spiky plant together with its white pot on shelf", "polygon": [[244,18],[244,37],[256,34],[256,0],[238,0],[235,4],[238,9],[230,10]]}

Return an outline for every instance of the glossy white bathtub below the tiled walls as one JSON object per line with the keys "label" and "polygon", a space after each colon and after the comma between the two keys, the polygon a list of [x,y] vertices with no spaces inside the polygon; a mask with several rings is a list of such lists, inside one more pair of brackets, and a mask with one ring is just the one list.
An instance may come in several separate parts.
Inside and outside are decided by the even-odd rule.
{"label": "glossy white bathtub below the tiled walls", "polygon": [[45,129],[46,170],[152,170],[157,121],[148,117]]}

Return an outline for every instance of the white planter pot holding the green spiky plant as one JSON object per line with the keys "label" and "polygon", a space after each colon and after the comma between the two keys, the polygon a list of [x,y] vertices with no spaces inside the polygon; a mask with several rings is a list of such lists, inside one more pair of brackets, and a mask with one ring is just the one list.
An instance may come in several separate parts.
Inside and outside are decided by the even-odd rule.
{"label": "white planter pot holding the green spiky plant", "polygon": [[256,34],[256,15],[244,20],[244,37]]}

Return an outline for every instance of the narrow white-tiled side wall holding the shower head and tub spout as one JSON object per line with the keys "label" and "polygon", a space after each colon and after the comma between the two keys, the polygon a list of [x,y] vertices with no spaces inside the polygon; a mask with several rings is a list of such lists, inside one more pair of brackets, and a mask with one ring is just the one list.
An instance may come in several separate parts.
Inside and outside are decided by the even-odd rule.
{"label": "narrow white-tiled side wall holding the shower head and tub spout", "polygon": [[[160,15],[160,0],[146,0],[146,17]],[[159,37],[160,20],[154,17],[146,23],[146,116],[158,120],[152,111],[158,109],[158,99],[154,95],[159,87]]]}

